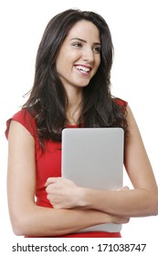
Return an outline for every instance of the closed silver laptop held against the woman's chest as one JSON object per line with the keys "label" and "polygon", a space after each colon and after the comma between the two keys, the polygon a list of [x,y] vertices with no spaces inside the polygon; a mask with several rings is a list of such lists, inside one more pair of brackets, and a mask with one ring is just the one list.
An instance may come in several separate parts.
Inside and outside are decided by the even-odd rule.
{"label": "closed silver laptop held against the woman's chest", "polygon": [[[116,190],[122,187],[121,128],[66,128],[62,132],[62,176],[80,187]],[[118,232],[120,224],[101,224],[84,231]]]}

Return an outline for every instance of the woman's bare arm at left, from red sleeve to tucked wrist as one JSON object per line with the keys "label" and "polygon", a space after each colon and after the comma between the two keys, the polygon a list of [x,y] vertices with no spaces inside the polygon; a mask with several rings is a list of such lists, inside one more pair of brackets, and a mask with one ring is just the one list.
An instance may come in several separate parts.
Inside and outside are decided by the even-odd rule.
{"label": "woman's bare arm at left, from red sleeve to tucked wrist", "polygon": [[20,123],[12,121],[8,137],[7,195],[16,235],[57,236],[101,223],[126,221],[93,209],[38,207],[35,185],[34,138]]}

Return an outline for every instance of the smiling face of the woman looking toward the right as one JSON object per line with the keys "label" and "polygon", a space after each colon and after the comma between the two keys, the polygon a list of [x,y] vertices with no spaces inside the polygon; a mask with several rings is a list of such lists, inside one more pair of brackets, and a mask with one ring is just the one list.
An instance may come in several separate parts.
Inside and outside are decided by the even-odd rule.
{"label": "smiling face of the woman looking toward the right", "polygon": [[66,90],[89,84],[100,66],[100,31],[92,22],[80,20],[68,32],[56,60],[58,77]]}

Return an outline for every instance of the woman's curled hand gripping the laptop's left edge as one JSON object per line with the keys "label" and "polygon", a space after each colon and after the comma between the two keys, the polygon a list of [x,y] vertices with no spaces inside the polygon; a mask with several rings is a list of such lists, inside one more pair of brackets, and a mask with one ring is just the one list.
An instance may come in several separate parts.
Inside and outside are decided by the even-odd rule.
{"label": "woman's curled hand gripping the laptop's left edge", "polygon": [[48,177],[45,184],[47,199],[53,208],[75,208],[79,206],[81,187],[62,177]]}

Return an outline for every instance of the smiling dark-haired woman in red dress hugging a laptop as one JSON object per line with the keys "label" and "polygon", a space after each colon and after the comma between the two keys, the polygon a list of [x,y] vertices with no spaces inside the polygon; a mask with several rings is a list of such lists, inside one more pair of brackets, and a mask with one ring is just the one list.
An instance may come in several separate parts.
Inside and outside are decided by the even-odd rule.
{"label": "smiling dark-haired woman in red dress hugging a laptop", "polygon": [[[158,213],[157,185],[132,111],[111,97],[112,53],[111,32],[101,16],[69,9],[49,21],[33,89],[7,122],[8,204],[16,235],[121,237],[78,231]],[[123,128],[124,165],[134,189],[100,191],[61,178],[65,127]]]}

